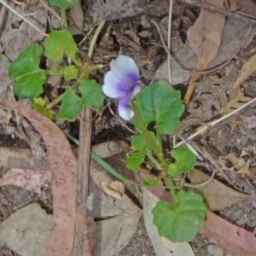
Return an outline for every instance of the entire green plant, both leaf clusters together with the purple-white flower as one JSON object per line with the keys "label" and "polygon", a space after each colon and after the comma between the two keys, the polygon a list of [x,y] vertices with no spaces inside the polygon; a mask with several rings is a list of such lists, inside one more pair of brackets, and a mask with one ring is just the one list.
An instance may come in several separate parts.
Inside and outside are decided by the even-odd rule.
{"label": "entire green plant, both leaf clusters together with the purple-white flower", "polygon": [[[131,148],[135,153],[126,154],[127,167],[137,172],[145,157],[148,157],[160,171],[160,175],[152,180],[145,178],[143,186],[157,187],[160,179],[166,177],[169,181],[167,185],[173,204],[159,201],[152,211],[160,236],[176,242],[191,241],[204,224],[207,207],[201,195],[178,190],[174,186],[173,178],[178,177],[181,172],[189,172],[195,164],[195,154],[185,146],[173,149],[170,156],[174,160],[170,163],[166,160],[162,146],[162,136],[172,134],[179,125],[184,110],[180,92],[172,89],[171,84],[163,80],[141,90],[137,66],[131,58],[124,55],[111,61],[111,70],[106,74],[103,86],[89,79],[90,72],[101,65],[90,65],[81,61],[79,49],[68,32],[66,9],[77,1],[51,0],[50,3],[61,8],[65,29],[50,32],[49,38],[44,41],[44,48],[39,44],[31,44],[9,65],[9,76],[16,79],[15,95],[31,99],[34,108],[49,119],[55,119],[55,112],[51,108],[61,102],[57,117],[69,121],[78,117],[84,106],[96,111],[102,108],[102,90],[106,96],[119,98],[119,115],[126,120],[133,118],[138,132],[131,140]],[[104,21],[98,26],[90,44],[89,57],[103,24]],[[72,64],[67,67],[56,66],[50,70],[42,69],[39,66],[43,54],[52,61],[61,61],[67,57]],[[40,97],[44,92],[43,84],[48,75],[60,74],[65,80],[75,79],[75,82],[63,95],[46,105]],[[154,124],[154,131],[148,131],[149,124]],[[95,154],[92,157],[98,160]],[[104,165],[102,160],[99,162]],[[105,167],[108,172],[127,182],[127,179],[120,177],[109,166]]]}

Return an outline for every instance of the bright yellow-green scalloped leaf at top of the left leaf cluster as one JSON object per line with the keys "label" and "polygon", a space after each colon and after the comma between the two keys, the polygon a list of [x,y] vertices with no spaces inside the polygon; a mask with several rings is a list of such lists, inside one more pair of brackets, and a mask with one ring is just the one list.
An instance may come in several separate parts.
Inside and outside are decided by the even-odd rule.
{"label": "bright yellow-green scalloped leaf at top of the left leaf cluster", "polygon": [[46,38],[44,41],[44,48],[44,55],[53,61],[60,61],[64,54],[74,58],[79,50],[67,29],[51,31],[49,38]]}

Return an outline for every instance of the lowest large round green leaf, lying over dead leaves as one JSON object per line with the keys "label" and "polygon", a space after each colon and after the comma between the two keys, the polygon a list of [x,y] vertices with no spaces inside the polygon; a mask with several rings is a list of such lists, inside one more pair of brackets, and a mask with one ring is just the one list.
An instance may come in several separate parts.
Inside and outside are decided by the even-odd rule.
{"label": "lowest large round green leaf, lying over dead leaves", "polygon": [[207,207],[201,195],[193,191],[180,191],[175,197],[177,208],[166,201],[158,201],[152,210],[153,223],[160,236],[172,242],[192,241],[205,223]]}

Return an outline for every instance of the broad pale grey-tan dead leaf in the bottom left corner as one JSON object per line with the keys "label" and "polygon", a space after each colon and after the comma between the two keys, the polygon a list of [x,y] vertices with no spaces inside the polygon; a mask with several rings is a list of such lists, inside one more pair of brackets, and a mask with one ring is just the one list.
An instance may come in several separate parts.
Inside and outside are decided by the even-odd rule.
{"label": "broad pale grey-tan dead leaf in the bottom left corner", "polygon": [[0,224],[0,244],[26,256],[44,256],[52,215],[38,204],[30,204],[14,212]]}

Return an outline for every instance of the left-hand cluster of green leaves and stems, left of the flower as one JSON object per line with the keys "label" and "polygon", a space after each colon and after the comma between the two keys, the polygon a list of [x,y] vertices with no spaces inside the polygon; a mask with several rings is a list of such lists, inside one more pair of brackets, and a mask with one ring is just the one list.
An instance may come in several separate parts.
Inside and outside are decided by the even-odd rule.
{"label": "left-hand cluster of green leaves and stems, left of the flower", "polygon": [[[44,48],[36,43],[32,43],[27,49],[22,51],[18,58],[9,65],[9,77],[16,79],[14,93],[22,99],[29,98],[33,102],[34,109],[43,113],[49,119],[55,119],[55,112],[51,109],[61,102],[61,109],[58,113],[59,119],[69,121],[75,119],[82,112],[84,106],[93,110],[102,108],[104,96],[102,86],[95,80],[89,79],[89,74],[93,69],[102,67],[101,65],[89,65],[79,59],[78,47],[73,40],[72,35],[67,30],[66,9],[77,4],[78,1],[55,1],[51,4],[61,8],[62,20],[65,29],[61,31],[51,31],[49,37],[44,41]],[[99,26],[97,33],[101,30],[104,21]],[[89,56],[95,40],[90,45]],[[50,70],[39,67],[42,56],[45,55],[52,61],[61,61],[63,58],[69,58],[73,64],[67,67],[56,66]],[[45,105],[44,99],[40,96],[43,90],[43,84],[48,75],[62,75],[64,79],[75,79],[76,82],[65,93],[55,101]],[[74,90],[79,90],[79,95]]]}

